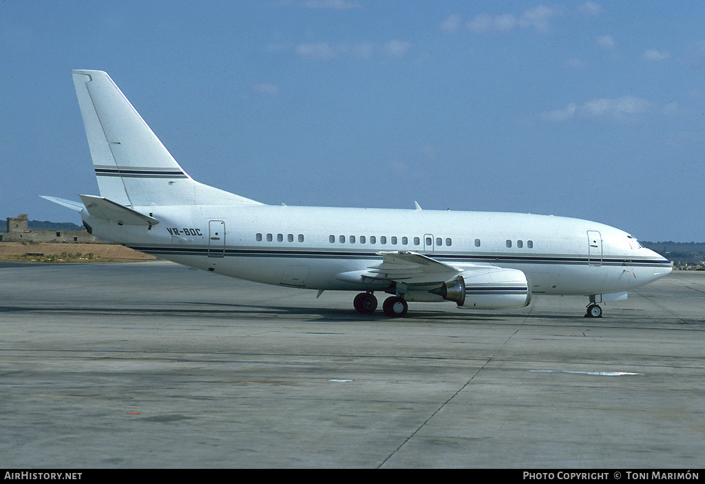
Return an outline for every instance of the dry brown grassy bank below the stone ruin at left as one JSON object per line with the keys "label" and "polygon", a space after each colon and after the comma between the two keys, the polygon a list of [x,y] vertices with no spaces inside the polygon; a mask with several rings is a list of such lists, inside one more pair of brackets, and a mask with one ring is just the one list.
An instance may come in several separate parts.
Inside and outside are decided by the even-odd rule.
{"label": "dry brown grassy bank below the stone ruin at left", "polygon": [[157,258],[113,244],[51,244],[45,242],[0,242],[0,260],[34,262],[126,262]]}

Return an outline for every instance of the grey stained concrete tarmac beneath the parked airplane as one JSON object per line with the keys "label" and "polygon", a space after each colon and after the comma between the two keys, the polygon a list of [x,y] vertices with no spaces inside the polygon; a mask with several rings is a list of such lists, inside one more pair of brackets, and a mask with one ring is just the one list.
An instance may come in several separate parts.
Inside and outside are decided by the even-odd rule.
{"label": "grey stained concrete tarmac beneath the parked airplane", "polygon": [[[705,273],[584,318],[0,265],[3,468],[678,468],[705,461]],[[383,299],[379,294],[380,305]]]}

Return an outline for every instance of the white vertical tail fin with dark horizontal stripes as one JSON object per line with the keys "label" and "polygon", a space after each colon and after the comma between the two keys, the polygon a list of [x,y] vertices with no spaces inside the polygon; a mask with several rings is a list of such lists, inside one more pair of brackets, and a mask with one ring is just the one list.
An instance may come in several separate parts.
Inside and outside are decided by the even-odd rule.
{"label": "white vertical tail fin with dark horizontal stripes", "polygon": [[193,180],[101,70],[73,70],[102,197],[123,206],[257,204]]}

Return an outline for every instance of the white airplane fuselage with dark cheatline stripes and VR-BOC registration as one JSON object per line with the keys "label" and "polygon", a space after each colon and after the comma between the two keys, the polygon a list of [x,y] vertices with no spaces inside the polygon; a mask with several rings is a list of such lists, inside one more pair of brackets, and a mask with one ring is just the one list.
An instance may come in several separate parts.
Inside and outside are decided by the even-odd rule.
{"label": "white airplane fuselage with dark cheatline stripes and VR-BOC registration", "polygon": [[384,251],[417,252],[458,268],[514,268],[527,275],[534,294],[623,292],[671,271],[668,260],[627,232],[576,218],[269,205],[135,210],[159,224],[118,225],[85,211],[82,216],[94,235],[163,259],[314,290],[384,290],[384,281],[355,276],[381,261],[378,253]]}

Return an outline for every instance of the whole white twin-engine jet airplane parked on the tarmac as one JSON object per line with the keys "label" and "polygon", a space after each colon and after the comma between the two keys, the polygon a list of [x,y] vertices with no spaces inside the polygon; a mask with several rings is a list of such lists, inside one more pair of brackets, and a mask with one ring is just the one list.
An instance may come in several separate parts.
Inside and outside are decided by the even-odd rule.
{"label": "whole white twin-engine jet airplane parked on the tarmac", "polygon": [[[410,301],[519,309],[532,294],[599,304],[670,273],[667,259],[601,223],[525,213],[271,206],[203,185],[176,163],[106,73],[74,70],[100,197],[88,232],[204,271],[259,283],[356,291],[354,306],[405,316]],[[317,297],[318,297],[317,296]]]}

